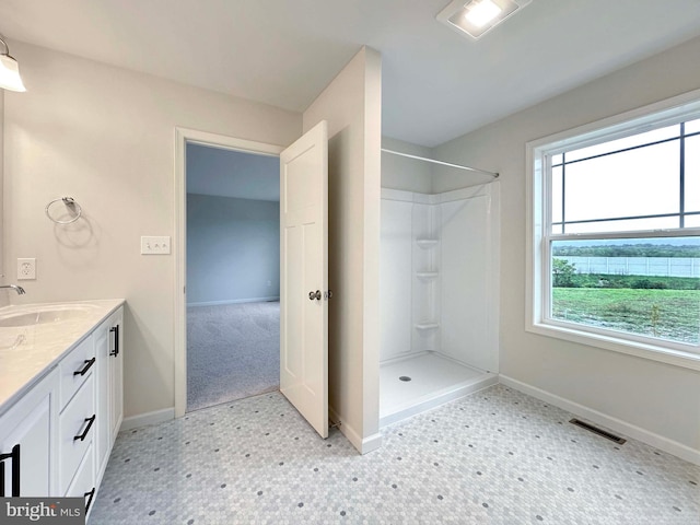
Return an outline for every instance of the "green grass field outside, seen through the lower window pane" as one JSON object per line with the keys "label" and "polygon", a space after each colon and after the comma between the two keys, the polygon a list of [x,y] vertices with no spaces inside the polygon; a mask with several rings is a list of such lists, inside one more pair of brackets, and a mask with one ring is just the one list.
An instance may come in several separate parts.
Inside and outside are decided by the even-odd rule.
{"label": "green grass field outside, seen through the lower window pane", "polygon": [[700,290],[553,288],[552,318],[700,342]]}

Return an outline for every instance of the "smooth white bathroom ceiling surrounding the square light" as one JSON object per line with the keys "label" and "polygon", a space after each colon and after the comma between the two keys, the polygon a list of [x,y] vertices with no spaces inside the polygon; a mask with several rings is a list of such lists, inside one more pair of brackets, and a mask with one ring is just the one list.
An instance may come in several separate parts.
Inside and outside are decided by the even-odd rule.
{"label": "smooth white bathroom ceiling surrounding the square light", "polygon": [[447,3],[0,0],[0,32],[296,112],[369,45],[384,135],[428,147],[700,35],[700,0],[533,0],[472,42]]}

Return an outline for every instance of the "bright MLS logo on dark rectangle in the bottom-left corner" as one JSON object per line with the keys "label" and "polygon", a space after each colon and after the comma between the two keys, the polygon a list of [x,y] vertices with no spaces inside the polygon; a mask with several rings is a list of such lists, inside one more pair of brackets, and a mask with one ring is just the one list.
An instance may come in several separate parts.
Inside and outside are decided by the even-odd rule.
{"label": "bright MLS logo on dark rectangle in the bottom-left corner", "polygon": [[0,525],[84,525],[83,498],[0,498]]}

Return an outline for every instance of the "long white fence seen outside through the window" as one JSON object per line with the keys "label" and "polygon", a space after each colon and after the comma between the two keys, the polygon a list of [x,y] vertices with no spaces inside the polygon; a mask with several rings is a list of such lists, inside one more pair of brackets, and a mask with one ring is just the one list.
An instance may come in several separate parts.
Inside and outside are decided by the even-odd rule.
{"label": "long white fence seen outside through the window", "polygon": [[581,257],[555,256],[575,265],[578,273],[698,277],[700,257]]}

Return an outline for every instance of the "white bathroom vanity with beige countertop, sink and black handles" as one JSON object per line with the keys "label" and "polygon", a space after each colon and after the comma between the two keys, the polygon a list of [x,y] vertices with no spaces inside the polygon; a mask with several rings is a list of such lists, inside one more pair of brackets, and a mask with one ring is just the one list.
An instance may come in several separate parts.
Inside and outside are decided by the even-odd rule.
{"label": "white bathroom vanity with beige countertop, sink and black handles", "polygon": [[0,308],[0,497],[94,501],[122,410],[124,300]]}

